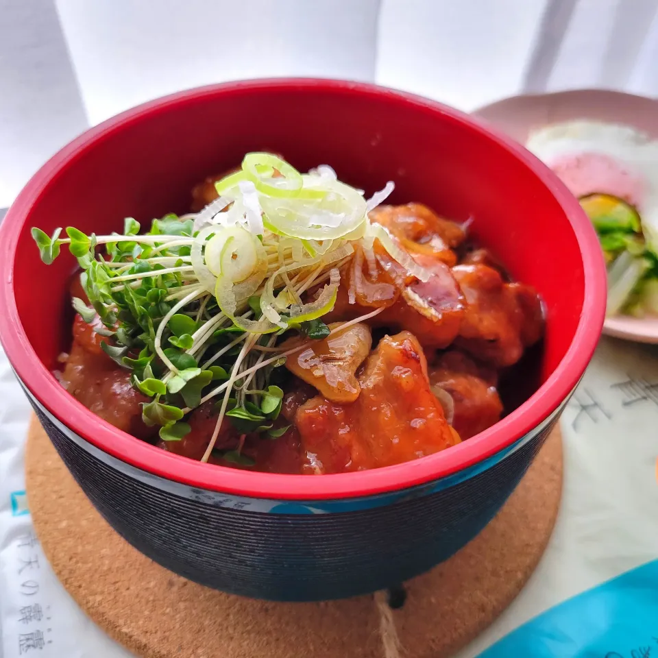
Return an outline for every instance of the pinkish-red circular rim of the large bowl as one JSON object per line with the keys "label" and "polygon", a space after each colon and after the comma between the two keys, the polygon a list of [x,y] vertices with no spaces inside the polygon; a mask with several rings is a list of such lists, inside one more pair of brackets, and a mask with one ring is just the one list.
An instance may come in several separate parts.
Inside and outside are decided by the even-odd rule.
{"label": "pinkish-red circular rim of the large bowl", "polygon": [[[143,121],[145,117],[165,112],[173,106],[196,103],[205,97],[219,95],[230,98],[273,90],[369,97],[373,101],[400,108],[406,106],[418,112],[442,115],[444,121],[461,125],[513,154],[556,197],[570,221],[583,259],[585,290],[581,316],[568,351],[544,384],[491,428],[449,450],[379,469],[321,477],[249,472],[186,459],[114,428],[69,395],[39,360],[19,319],[12,282],[19,234],[29,221],[32,206],[45,188],[53,184],[62,169],[82,153],[112,138],[115,131]],[[36,247],[34,253],[37,258]],[[104,452],[156,476],[199,489],[272,500],[335,500],[398,491],[438,480],[507,448],[528,432],[536,430],[568,398],[580,380],[600,337],[606,299],[605,267],[589,220],[576,198],[557,176],[522,145],[437,101],[374,84],[313,78],[249,80],[193,88],[143,103],[84,132],[34,174],[8,210],[0,226],[0,276],[0,340],[23,385],[60,422]]]}

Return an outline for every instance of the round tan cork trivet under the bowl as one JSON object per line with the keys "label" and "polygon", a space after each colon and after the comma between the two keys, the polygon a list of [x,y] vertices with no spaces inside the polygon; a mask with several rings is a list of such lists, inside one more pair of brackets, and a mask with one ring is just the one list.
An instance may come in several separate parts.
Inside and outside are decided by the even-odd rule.
{"label": "round tan cork trivet under the bowl", "polygon": [[404,658],[450,656],[526,583],[550,537],[561,485],[556,430],[489,526],[406,583],[404,606],[387,620],[381,595],[271,603],[175,576],[110,528],[36,419],[27,443],[29,509],[53,570],[92,620],[144,658],[384,658],[396,642]]}

